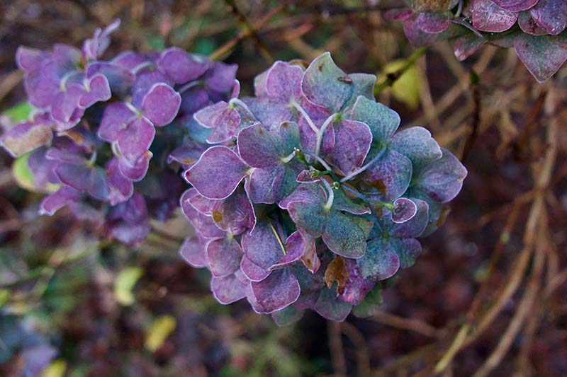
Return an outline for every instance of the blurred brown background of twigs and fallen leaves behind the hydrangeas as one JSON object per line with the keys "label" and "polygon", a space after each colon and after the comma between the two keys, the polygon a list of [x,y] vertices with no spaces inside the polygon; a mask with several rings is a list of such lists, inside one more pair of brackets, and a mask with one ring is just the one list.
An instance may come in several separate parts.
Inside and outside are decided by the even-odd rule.
{"label": "blurred brown background of twigs and fallen leaves behind the hydrangeas", "polygon": [[469,173],[374,315],[277,327],[214,301],[208,273],[177,254],[181,217],[135,249],[101,243],[65,210],[38,216],[41,195],[0,151],[0,376],[566,376],[567,69],[537,84],[513,51],[461,63],[449,44],[415,50],[383,19],[396,4],[2,0],[0,112],[25,100],[18,45],[79,45],[121,18],[108,56],[209,54],[239,64],[245,94],[275,59],[330,51],[345,71],[376,73],[403,126],[430,129]]}

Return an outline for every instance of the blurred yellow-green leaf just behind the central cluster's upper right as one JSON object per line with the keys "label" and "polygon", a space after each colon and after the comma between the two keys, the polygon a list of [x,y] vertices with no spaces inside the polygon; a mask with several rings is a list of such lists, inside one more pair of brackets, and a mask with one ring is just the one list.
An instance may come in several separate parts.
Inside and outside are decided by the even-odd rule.
{"label": "blurred yellow-green leaf just behind the central cluster's upper right", "polygon": [[[393,74],[401,69],[405,60],[394,60],[384,66],[384,74]],[[392,95],[396,100],[405,103],[415,109],[420,104],[421,90],[423,86],[422,72],[413,64],[396,80],[391,88]]]}

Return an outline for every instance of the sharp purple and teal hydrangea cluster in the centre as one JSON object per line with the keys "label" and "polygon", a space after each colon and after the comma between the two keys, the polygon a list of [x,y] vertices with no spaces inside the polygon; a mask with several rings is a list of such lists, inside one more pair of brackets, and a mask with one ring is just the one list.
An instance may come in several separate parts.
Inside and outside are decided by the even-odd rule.
{"label": "sharp purple and teal hydrangea cluster in the centre", "polygon": [[276,62],[254,97],[196,112],[210,147],[184,172],[196,234],[180,253],[210,270],[220,303],[247,298],[280,324],[305,309],[340,321],[414,263],[466,169],[427,129],[398,131],[375,81],[327,52]]}

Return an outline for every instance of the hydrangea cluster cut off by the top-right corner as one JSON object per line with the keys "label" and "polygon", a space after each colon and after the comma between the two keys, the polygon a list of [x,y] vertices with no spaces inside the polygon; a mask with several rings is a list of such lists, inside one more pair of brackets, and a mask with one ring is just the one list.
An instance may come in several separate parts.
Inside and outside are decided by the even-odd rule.
{"label": "hydrangea cluster cut off by the top-right corner", "polygon": [[464,60],[485,43],[514,47],[539,82],[567,60],[567,6],[564,0],[412,0],[411,8],[388,11],[404,21],[405,35],[416,46],[454,40]]}

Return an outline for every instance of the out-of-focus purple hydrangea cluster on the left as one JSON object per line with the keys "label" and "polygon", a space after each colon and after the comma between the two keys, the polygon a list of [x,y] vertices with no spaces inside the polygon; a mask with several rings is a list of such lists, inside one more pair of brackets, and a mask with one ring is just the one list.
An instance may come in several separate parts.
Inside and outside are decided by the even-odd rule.
{"label": "out-of-focus purple hydrangea cluster on the left", "polygon": [[236,65],[176,47],[102,60],[118,25],[97,29],[82,49],[18,49],[35,110],[0,144],[14,157],[26,155],[35,187],[48,192],[40,213],[68,205],[136,245],[150,231],[148,216],[163,221],[178,205],[183,180],[167,164],[202,151],[196,142],[188,147],[198,139],[193,113],[228,100],[239,84]]}

